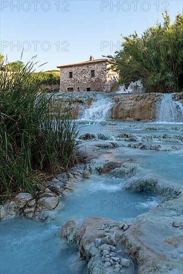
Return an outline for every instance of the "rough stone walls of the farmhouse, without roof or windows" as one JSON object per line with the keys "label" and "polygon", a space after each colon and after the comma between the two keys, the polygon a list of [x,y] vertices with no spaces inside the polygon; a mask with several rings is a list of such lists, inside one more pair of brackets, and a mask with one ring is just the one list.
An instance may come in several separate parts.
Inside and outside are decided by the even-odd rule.
{"label": "rough stone walls of the farmhouse, without roof or windows", "polygon": [[[91,70],[95,70],[95,77],[91,78]],[[73,78],[69,78],[69,72],[72,71]],[[68,88],[77,91],[111,91],[114,75],[109,76],[108,81],[107,62],[98,62],[93,64],[84,64],[76,66],[63,67],[60,70],[60,91],[67,92]]]}

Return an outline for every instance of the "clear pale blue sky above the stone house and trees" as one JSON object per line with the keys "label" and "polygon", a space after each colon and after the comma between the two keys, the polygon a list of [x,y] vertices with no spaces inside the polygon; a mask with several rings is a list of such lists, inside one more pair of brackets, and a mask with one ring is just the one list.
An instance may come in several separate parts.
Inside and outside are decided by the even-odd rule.
{"label": "clear pale blue sky above the stone house and trees", "polygon": [[43,70],[101,58],[119,49],[121,33],[141,34],[162,21],[165,9],[173,21],[183,0],[0,0],[0,52],[12,62],[24,47],[22,61],[37,55],[48,62]]}

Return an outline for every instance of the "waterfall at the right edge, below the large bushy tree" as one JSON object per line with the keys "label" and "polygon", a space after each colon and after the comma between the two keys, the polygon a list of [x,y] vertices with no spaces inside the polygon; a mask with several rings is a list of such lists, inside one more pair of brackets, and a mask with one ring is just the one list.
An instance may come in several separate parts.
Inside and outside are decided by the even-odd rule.
{"label": "waterfall at the right edge, below the large bushy tree", "polygon": [[172,94],[164,94],[158,104],[158,121],[170,123],[183,123],[183,105],[172,99]]}

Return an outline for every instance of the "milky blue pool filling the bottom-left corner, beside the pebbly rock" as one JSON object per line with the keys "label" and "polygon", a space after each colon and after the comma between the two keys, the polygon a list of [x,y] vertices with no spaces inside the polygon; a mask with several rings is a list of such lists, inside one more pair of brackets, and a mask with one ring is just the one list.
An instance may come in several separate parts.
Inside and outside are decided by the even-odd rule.
{"label": "milky blue pool filling the bottom-left corner, beside the pebbly rock", "polygon": [[85,274],[78,250],[58,236],[54,224],[24,219],[0,223],[1,274]]}

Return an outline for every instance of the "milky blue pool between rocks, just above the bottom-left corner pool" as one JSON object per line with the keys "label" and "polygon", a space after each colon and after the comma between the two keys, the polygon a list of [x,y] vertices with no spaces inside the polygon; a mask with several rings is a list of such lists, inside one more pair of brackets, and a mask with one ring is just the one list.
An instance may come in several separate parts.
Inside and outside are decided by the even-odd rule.
{"label": "milky blue pool between rocks, just above the bottom-left corner pool", "polygon": [[124,190],[124,179],[94,175],[77,183],[74,194],[67,197],[64,208],[54,222],[76,219],[81,224],[87,217],[109,217],[116,221],[132,220],[159,203],[158,197]]}

